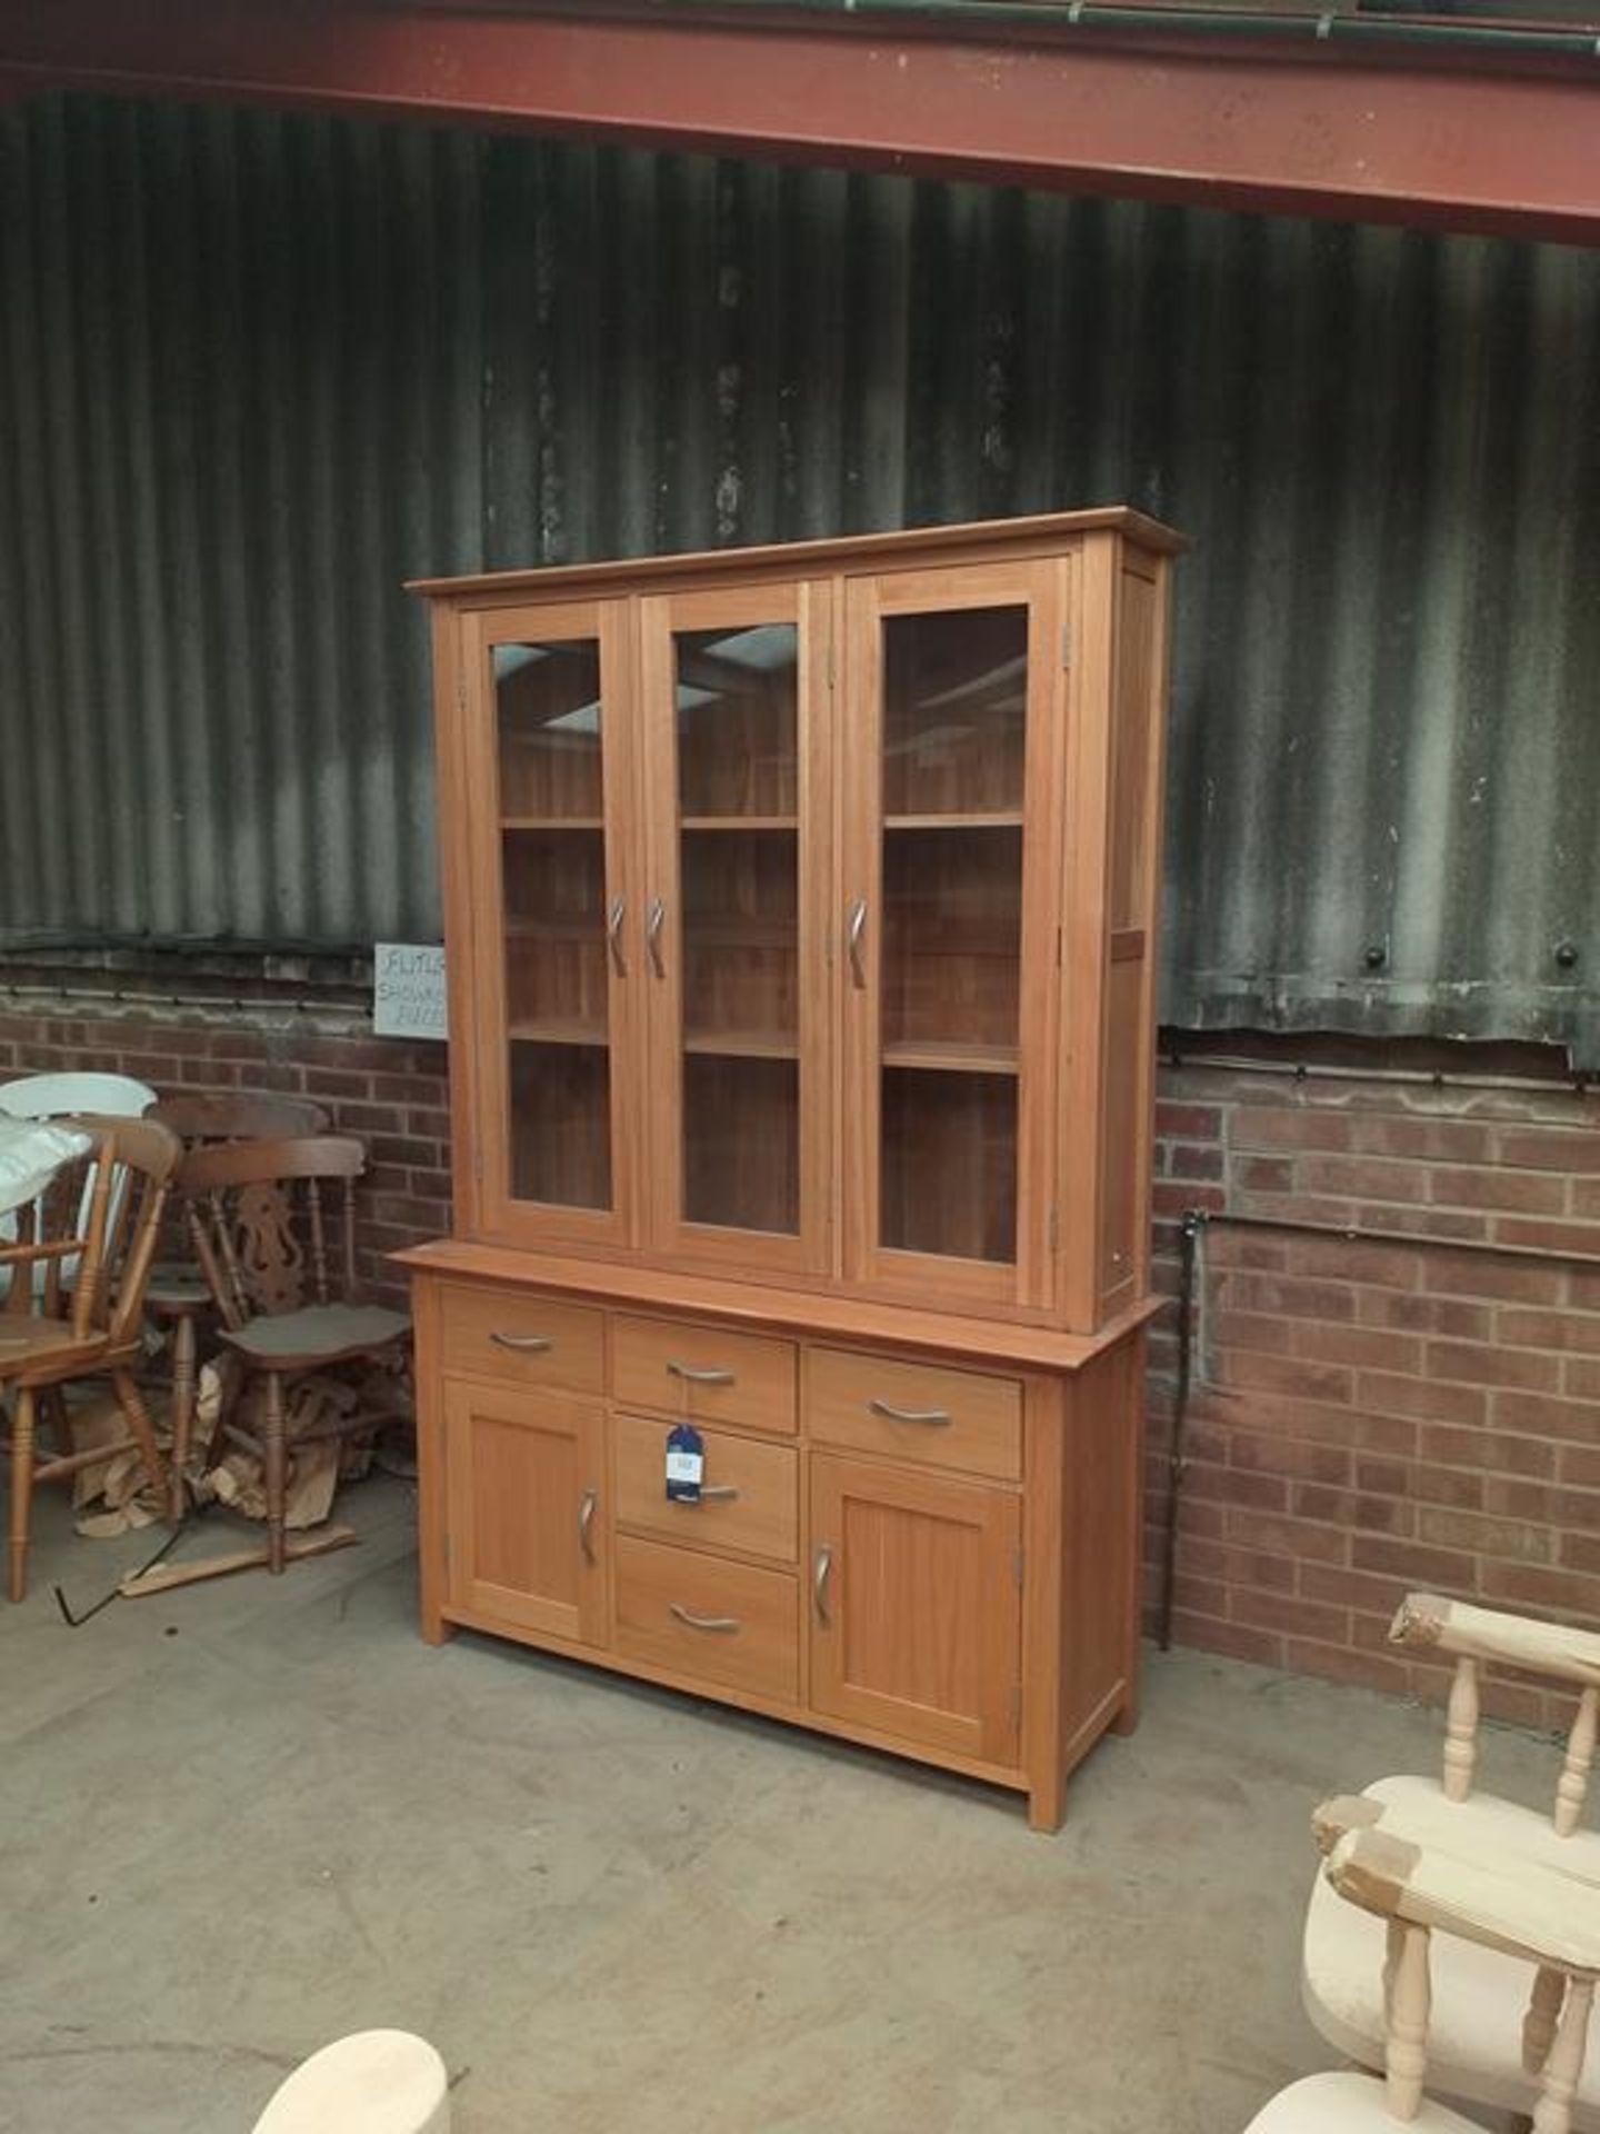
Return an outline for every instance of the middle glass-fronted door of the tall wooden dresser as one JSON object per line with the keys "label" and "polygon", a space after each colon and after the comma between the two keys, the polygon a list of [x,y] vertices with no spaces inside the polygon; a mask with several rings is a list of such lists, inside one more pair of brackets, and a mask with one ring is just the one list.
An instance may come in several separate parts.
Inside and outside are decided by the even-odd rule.
{"label": "middle glass-fronted door of the tall wooden dresser", "polygon": [[640,602],[649,1240],[826,1272],[830,587]]}

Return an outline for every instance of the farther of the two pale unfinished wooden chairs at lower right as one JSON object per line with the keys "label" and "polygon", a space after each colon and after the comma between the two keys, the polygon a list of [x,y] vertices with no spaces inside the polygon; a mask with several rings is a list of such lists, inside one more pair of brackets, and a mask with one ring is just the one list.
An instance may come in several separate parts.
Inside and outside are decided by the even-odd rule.
{"label": "farther of the two pale unfinished wooden chairs at lower right", "polygon": [[[1600,1833],[1579,1827],[1596,1748],[1600,1637],[1434,1594],[1412,1594],[1389,1635],[1410,1650],[1451,1654],[1457,1665],[1444,1718],[1440,1778],[1376,1780],[1361,1795],[1370,1820],[1389,1835],[1468,1863],[1555,1869],[1574,1886],[1596,1891],[1600,1901]],[[1579,1690],[1551,1814],[1474,1790],[1478,1675],[1493,1662]],[[1380,1944],[1378,1925],[1340,1904],[1318,1876],[1301,1944],[1306,2012],[1329,2044],[1363,2066],[1378,2066],[1385,2044]],[[1525,2008],[1525,1989],[1523,1968],[1493,1948],[1451,1942],[1440,1950],[1431,2061],[1444,2093],[1495,2111],[1530,2108],[1527,2040],[1538,2040],[1549,2029],[1551,2010],[1542,2004]],[[1540,1991],[1551,1991],[1549,1980]],[[1600,2134],[1600,2066],[1583,2081],[1574,2125]]]}

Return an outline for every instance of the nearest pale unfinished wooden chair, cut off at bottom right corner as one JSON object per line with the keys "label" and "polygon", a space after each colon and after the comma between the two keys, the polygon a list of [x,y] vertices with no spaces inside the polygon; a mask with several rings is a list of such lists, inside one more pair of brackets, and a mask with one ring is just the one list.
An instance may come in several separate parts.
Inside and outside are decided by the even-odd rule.
{"label": "nearest pale unfinished wooden chair, cut off at bottom right corner", "polygon": [[[1476,1948],[1515,1974],[1517,2002],[1551,2010],[1530,2040],[1527,2089],[1534,2134],[1570,2134],[1572,2102],[1600,1974],[1600,1891],[1553,1867],[1504,1861],[1474,1865],[1431,1844],[1365,1822],[1374,1803],[1361,1795],[1316,1812],[1329,1842],[1323,1878],[1333,1901],[1359,1908],[1372,1927],[1374,1980],[1385,2002],[1382,2081],[1372,2074],[1310,2074],[1280,2089],[1246,2134],[1483,2134],[1427,2096],[1436,2066],[1429,2051],[1434,1959],[1444,1948]],[[1449,2085],[1449,2076],[1444,2076]]]}

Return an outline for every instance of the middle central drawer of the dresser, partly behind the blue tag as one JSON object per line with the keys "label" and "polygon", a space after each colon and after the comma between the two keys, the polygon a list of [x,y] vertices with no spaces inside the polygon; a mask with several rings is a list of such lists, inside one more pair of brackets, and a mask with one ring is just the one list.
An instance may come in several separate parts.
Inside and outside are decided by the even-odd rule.
{"label": "middle central drawer of the dresser, partly behind the blue tag", "polygon": [[[706,1477],[700,1502],[666,1494],[666,1440],[672,1426],[619,1415],[617,1519],[687,1547],[742,1549],[781,1564],[796,1560],[800,1511],[798,1458],[787,1445],[757,1445],[723,1430],[702,1432]],[[727,1492],[725,1496],[721,1492]]]}

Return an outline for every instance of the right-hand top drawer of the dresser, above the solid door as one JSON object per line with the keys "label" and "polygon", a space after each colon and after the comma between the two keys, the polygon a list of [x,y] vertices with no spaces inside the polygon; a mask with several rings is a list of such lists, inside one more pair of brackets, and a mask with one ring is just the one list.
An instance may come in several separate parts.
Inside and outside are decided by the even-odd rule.
{"label": "right-hand top drawer of the dresser, above the solid door", "polygon": [[1022,1475],[1022,1385],[1015,1379],[813,1349],[806,1428],[819,1445],[894,1453],[1003,1481]]}

